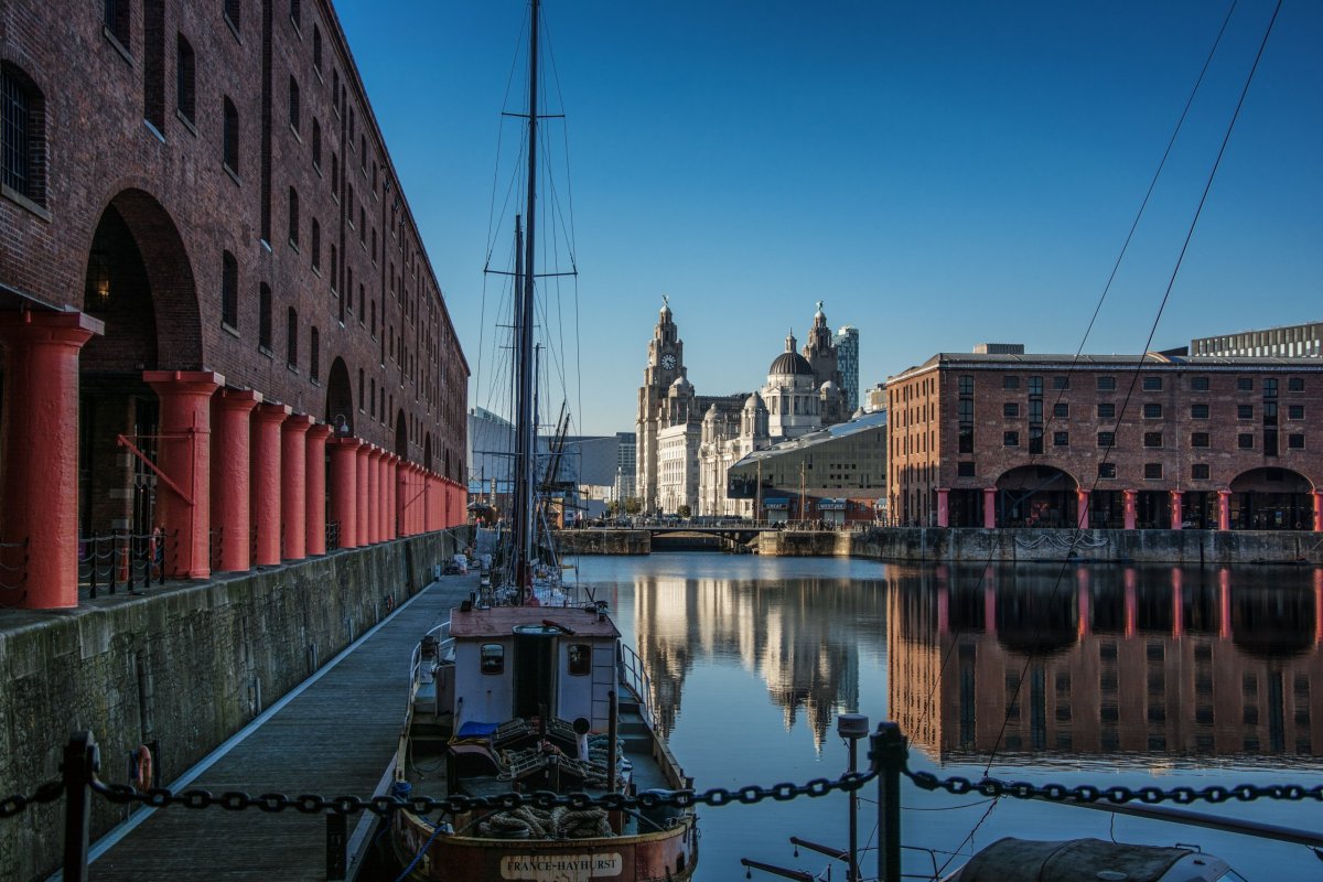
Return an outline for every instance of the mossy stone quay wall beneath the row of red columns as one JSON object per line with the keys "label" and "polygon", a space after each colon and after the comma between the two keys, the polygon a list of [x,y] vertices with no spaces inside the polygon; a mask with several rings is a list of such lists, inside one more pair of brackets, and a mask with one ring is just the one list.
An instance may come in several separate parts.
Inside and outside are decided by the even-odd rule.
{"label": "mossy stone quay wall beneath the row of red columns", "polygon": [[[75,610],[0,611],[0,797],[58,778],[82,729],[103,780],[127,780],[130,752],[155,742],[156,779],[169,782],[417,594],[458,545],[431,533]],[[382,676],[405,670],[407,655]],[[310,731],[308,750],[335,737]],[[124,817],[93,807],[94,837]],[[64,800],[0,822],[0,879],[44,877],[62,830]]]}

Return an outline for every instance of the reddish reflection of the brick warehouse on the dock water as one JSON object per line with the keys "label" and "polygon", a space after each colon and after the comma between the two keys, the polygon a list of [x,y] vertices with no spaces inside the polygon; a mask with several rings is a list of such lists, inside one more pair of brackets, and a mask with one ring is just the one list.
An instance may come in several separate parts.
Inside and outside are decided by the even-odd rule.
{"label": "reddish reflection of the brick warehouse on the dock water", "polygon": [[1323,751],[1323,570],[886,573],[889,707],[939,762]]}

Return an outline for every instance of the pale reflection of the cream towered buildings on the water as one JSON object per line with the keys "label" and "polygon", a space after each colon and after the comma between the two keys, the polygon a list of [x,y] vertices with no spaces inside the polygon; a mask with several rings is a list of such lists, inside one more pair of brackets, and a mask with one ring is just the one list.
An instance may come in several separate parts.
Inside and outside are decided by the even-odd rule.
{"label": "pale reflection of the cream towered buildings on the water", "polygon": [[881,581],[640,575],[634,606],[664,733],[683,713],[695,662],[726,657],[766,682],[786,730],[804,714],[820,748],[835,715],[859,707],[860,652],[885,652]]}

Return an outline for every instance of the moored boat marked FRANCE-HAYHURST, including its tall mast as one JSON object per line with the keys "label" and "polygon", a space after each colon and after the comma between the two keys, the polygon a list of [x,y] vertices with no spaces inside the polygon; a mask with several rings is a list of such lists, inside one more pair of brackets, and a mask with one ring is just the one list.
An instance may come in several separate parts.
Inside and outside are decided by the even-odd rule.
{"label": "moored boat marked FRANCE-HAYHURST, including its tall mast", "polygon": [[[414,649],[393,792],[639,793],[692,788],[655,727],[652,690],[602,600],[538,575],[533,414],[538,0],[532,0],[527,235],[516,223],[516,414],[505,573]],[[487,577],[484,577],[487,578]],[[699,854],[692,807],[532,807],[392,819],[402,877],[433,882],[680,882]]]}

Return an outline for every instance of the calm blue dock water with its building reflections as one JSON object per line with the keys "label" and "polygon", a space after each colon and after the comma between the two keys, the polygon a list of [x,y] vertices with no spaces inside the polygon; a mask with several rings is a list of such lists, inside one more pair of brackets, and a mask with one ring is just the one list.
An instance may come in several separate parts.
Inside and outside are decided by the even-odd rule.
{"label": "calm blue dock water with its building reflections", "polygon": [[[836,715],[897,721],[941,775],[1163,788],[1323,783],[1323,571],[957,569],[833,558],[582,558],[643,657],[659,719],[699,789],[835,778]],[[1319,734],[1314,735],[1315,723]],[[865,763],[867,742],[860,746]],[[864,791],[871,799],[873,788]],[[902,782],[902,837],[937,866],[1003,836],[1197,844],[1246,879],[1323,879],[1308,849]],[[1323,807],[1193,807],[1320,829]],[[861,804],[860,845],[876,811]],[[696,879],[741,857],[823,873],[790,836],[844,848],[843,796],[700,809]],[[946,867],[954,870],[957,857]],[[906,873],[934,857],[906,852]],[[867,853],[865,877],[876,873]],[[755,873],[754,878],[773,879]],[[826,877],[824,877],[826,878]],[[844,878],[844,866],[832,867]],[[1232,877],[1234,878],[1234,877]]]}

